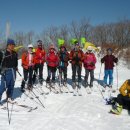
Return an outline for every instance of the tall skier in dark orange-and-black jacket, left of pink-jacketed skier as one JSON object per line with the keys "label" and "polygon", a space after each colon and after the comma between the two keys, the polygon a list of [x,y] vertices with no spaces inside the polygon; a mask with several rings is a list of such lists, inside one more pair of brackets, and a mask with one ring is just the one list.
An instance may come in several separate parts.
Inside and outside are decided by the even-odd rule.
{"label": "tall skier in dark orange-and-black jacket, left of pink-jacketed skier", "polygon": [[78,89],[81,88],[81,70],[82,70],[82,62],[84,59],[84,53],[80,49],[80,44],[78,42],[75,43],[75,47],[70,52],[69,56],[72,64],[72,87],[74,89],[74,95],[76,93],[76,72],[78,74]]}

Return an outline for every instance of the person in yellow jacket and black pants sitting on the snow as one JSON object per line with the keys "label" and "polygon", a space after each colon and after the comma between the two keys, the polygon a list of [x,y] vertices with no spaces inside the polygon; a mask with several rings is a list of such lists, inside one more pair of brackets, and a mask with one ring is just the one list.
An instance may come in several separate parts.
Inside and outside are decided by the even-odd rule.
{"label": "person in yellow jacket and black pants sitting on the snow", "polygon": [[110,112],[120,115],[122,109],[130,110],[130,79],[126,80],[119,89],[120,94],[118,94],[115,99],[115,105],[110,110]]}

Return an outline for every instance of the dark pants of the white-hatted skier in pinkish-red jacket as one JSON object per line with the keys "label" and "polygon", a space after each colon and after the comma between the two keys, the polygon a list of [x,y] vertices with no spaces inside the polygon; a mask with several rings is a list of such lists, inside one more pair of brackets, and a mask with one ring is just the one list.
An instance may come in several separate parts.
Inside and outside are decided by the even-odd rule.
{"label": "dark pants of the white-hatted skier in pinkish-red jacket", "polygon": [[94,81],[94,70],[85,69],[84,81],[85,81],[86,84],[88,84],[89,74],[90,74],[90,86],[92,87],[93,86],[93,81]]}

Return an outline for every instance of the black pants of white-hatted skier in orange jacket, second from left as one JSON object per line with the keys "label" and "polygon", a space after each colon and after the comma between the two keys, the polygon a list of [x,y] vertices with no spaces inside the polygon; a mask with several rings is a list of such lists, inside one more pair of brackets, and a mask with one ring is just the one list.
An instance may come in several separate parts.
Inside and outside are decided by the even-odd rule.
{"label": "black pants of white-hatted skier in orange jacket, second from left", "polygon": [[33,68],[23,69],[24,80],[22,81],[21,88],[25,87],[25,82],[28,80],[28,85],[32,86]]}

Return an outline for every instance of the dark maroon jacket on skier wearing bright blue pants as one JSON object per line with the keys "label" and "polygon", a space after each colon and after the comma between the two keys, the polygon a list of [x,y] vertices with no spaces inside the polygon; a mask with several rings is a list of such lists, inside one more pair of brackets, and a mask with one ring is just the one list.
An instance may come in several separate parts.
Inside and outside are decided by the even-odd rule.
{"label": "dark maroon jacket on skier wearing bright blue pants", "polygon": [[105,63],[105,69],[113,69],[114,62],[117,63],[118,59],[114,55],[106,55],[101,59],[102,63]]}

